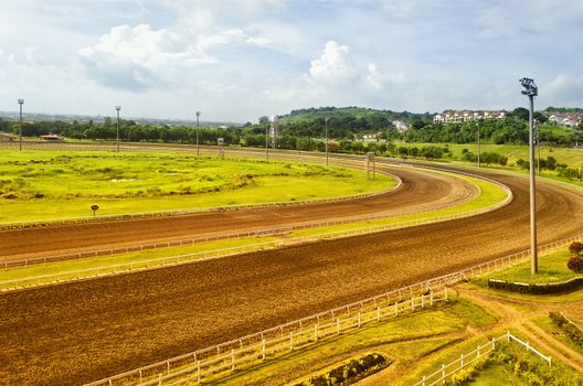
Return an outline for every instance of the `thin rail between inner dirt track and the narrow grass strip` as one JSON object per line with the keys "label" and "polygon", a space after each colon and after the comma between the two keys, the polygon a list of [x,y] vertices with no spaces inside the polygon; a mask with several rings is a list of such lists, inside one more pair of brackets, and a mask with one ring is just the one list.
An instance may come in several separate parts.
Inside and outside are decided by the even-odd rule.
{"label": "thin rail between inner dirt track and the narrow grass strip", "polygon": [[[24,258],[24,259],[18,259],[18,260],[6,260],[3,262],[0,262],[0,267],[3,266],[4,269],[8,269],[8,268],[13,268],[13,267],[25,267],[29,265],[39,265],[39,264],[46,264],[46,262],[53,262],[53,261],[80,259],[84,257],[97,257],[97,256],[107,256],[107,255],[116,255],[116,254],[126,254],[126,253],[138,251],[138,250],[186,246],[186,245],[209,243],[209,242],[224,240],[224,239],[232,239],[232,238],[279,235],[279,234],[285,234],[285,233],[289,233],[293,230],[311,229],[311,228],[343,225],[343,224],[350,224],[350,223],[371,222],[371,221],[379,221],[379,219],[389,219],[389,218],[396,218],[396,217],[403,217],[403,216],[420,215],[423,213],[437,212],[437,211],[452,208],[452,207],[462,205],[466,202],[469,202],[479,195],[480,193],[479,186],[476,185],[476,189],[477,191],[475,194],[469,195],[457,202],[421,208],[416,211],[402,211],[399,213],[391,213],[391,214],[375,214],[375,215],[358,216],[358,217],[350,217],[350,218],[317,221],[317,222],[310,222],[306,224],[289,225],[289,226],[277,227],[277,228],[254,229],[254,230],[246,230],[246,232],[201,236],[201,237],[187,238],[187,239],[176,239],[176,240],[169,240],[169,242],[138,244],[138,245],[131,245],[131,246],[126,246],[126,247],[84,250],[80,253],[52,255],[52,256],[43,256],[43,257],[32,257],[32,258]],[[507,199],[504,201],[504,203],[508,203],[511,200],[510,190],[506,190],[506,192],[507,192]],[[490,206],[490,210],[496,210],[498,207],[499,206],[495,206],[495,207]],[[471,213],[469,213],[469,215],[471,215]]]}

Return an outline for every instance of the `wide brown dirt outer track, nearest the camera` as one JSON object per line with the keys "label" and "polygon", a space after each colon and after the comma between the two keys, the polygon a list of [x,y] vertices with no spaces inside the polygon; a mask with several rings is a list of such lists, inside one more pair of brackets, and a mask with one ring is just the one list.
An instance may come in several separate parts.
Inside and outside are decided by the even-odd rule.
{"label": "wide brown dirt outer track, nearest the camera", "polygon": [[[489,176],[515,200],[480,216],[2,294],[0,379],[91,382],[528,248],[528,180]],[[581,233],[583,194],[538,186],[539,240]]]}

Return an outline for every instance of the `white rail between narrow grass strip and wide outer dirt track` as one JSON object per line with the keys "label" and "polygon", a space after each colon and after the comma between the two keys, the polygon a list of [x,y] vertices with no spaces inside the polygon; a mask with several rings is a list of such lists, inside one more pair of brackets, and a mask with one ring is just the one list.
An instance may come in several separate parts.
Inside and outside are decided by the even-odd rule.
{"label": "white rail between narrow grass strip and wide outer dirt track", "polygon": [[[232,248],[215,249],[215,250],[192,253],[192,254],[183,254],[183,255],[177,255],[177,256],[170,256],[170,257],[138,260],[138,261],[126,262],[126,264],[107,265],[107,266],[103,266],[98,268],[78,269],[78,270],[72,270],[72,271],[65,271],[65,272],[59,272],[59,274],[52,274],[52,275],[42,275],[42,276],[13,279],[13,280],[3,280],[3,281],[0,281],[0,291],[19,290],[19,289],[23,289],[28,287],[38,287],[38,286],[51,286],[54,283],[64,282],[64,281],[74,281],[74,280],[89,279],[89,278],[95,278],[95,277],[120,275],[120,274],[152,269],[152,268],[161,268],[161,267],[171,266],[171,265],[189,264],[189,262],[192,262],[193,260],[202,261],[202,260],[223,258],[223,257],[229,257],[229,256],[240,255],[240,254],[245,254],[245,253],[280,248],[284,246],[315,243],[319,240],[336,239],[336,238],[341,238],[341,237],[352,237],[357,235],[372,234],[372,233],[384,232],[389,229],[418,226],[423,224],[433,224],[437,222],[445,222],[445,221],[451,221],[455,218],[463,218],[463,217],[468,217],[468,216],[474,216],[474,215],[483,214],[486,212],[490,212],[500,206],[506,205],[511,199],[512,199],[511,195],[508,195],[505,201],[501,201],[491,206],[477,210],[477,211],[471,211],[468,213],[456,213],[456,214],[451,214],[451,215],[430,217],[430,218],[420,218],[420,219],[400,222],[400,223],[394,223],[394,224],[382,224],[382,225],[369,226],[369,227],[362,227],[362,228],[356,228],[356,229],[330,232],[330,233],[318,234],[314,236],[303,236],[303,237],[280,239],[280,240],[274,240],[274,242],[267,242],[267,243],[261,243],[261,244],[244,245],[244,246],[232,247]],[[180,245],[180,244],[177,244],[177,245]],[[171,245],[161,244],[160,246],[171,246]],[[137,246],[135,247],[135,249],[129,249],[128,247],[128,248],[117,248],[115,250],[118,253],[125,253],[125,251],[137,251],[137,250],[144,250],[144,249],[149,249],[149,248],[148,247],[144,248],[144,246]],[[112,250],[112,253],[114,253],[114,250]],[[108,255],[108,254],[104,253],[104,255]],[[82,258],[82,257],[92,257],[92,256],[96,256],[96,255],[92,255],[91,253],[89,254],[80,253],[80,254],[75,254],[74,257]],[[30,259],[30,260],[28,259],[24,262],[21,261],[20,266],[30,266],[32,264],[31,262],[32,260],[33,259]],[[49,261],[50,261],[49,257],[34,259],[35,264],[42,264],[42,262],[49,262]],[[0,266],[2,265],[4,266],[6,270],[8,270],[9,268],[18,267],[18,265],[14,261],[4,261],[3,264],[0,264]]]}

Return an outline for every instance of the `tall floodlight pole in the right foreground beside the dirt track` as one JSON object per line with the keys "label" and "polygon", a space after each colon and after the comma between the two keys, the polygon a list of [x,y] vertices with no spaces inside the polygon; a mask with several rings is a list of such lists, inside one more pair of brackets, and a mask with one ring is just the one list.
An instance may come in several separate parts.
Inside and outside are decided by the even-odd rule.
{"label": "tall floodlight pole in the right foreground beside the dirt track", "polygon": [[523,77],[520,84],[524,89],[522,94],[529,97],[529,146],[530,146],[530,274],[536,275],[539,271],[538,253],[537,253],[537,201],[536,201],[536,182],[534,182],[534,97],[539,95],[539,88],[533,79]]}

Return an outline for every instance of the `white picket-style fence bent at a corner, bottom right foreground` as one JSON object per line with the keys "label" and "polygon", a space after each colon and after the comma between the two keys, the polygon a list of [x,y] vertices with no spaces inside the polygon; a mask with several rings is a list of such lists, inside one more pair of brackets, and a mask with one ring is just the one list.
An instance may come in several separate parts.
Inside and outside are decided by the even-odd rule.
{"label": "white picket-style fence bent at a corner, bottom right foreground", "polygon": [[524,342],[508,331],[506,334],[500,335],[498,337],[492,337],[489,343],[486,343],[484,345],[478,345],[478,347],[467,354],[462,354],[459,358],[448,363],[448,364],[442,364],[442,368],[437,369],[436,372],[424,375],[423,378],[413,384],[413,386],[433,386],[437,384],[442,384],[447,379],[448,377],[453,376],[457,372],[464,369],[465,367],[469,366],[474,362],[478,361],[479,358],[484,356],[488,356],[491,352],[494,352],[497,349],[496,343],[505,340],[507,342],[516,342],[517,344],[520,344],[523,346],[527,351],[532,352],[533,354],[538,355],[542,360],[544,360],[549,367],[552,366],[552,360],[550,355],[544,355],[537,349],[534,349],[529,342]]}

